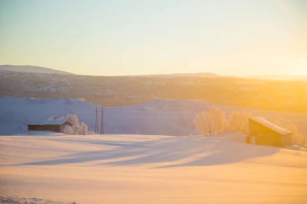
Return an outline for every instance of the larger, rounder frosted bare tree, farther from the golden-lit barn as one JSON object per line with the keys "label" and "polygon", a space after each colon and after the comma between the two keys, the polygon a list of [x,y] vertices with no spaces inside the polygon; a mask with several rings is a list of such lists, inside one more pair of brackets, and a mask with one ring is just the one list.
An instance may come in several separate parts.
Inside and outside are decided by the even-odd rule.
{"label": "larger, rounder frosted bare tree, farther from the golden-lit barn", "polygon": [[212,136],[224,131],[227,120],[222,109],[211,106],[208,111],[196,115],[193,123],[204,136]]}

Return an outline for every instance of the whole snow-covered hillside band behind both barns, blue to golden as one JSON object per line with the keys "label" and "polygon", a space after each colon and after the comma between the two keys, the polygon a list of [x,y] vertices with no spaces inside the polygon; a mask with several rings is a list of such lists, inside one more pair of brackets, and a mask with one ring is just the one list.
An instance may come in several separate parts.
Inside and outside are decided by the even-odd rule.
{"label": "whole snow-covered hillside band behind both barns, blue to golden", "polygon": [[[66,114],[77,114],[80,122],[85,122],[89,130],[94,131],[96,107],[101,110],[100,106],[72,98],[0,97],[0,105],[0,135],[26,132],[29,123],[40,123],[50,116],[57,118]],[[135,106],[104,108],[104,133],[173,136],[199,134],[192,121],[196,114],[210,106],[212,104],[199,101],[157,99]],[[227,117],[234,110],[245,110],[272,122],[278,119],[284,125],[296,124],[301,132],[307,132],[307,117],[217,106],[226,111]],[[101,112],[98,118],[100,124]]]}

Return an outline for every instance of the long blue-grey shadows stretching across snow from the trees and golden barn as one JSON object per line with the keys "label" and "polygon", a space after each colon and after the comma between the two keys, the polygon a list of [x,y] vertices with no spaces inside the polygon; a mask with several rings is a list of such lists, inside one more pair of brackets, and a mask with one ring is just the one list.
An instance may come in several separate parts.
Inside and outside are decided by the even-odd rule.
{"label": "long blue-grey shadows stretching across snow from the trees and golden barn", "polygon": [[[230,141],[227,137],[191,138],[168,137],[158,140],[131,142],[111,150],[73,153],[64,158],[14,165],[57,165],[102,161],[98,165],[126,166],[152,163],[174,163],[156,168],[177,166],[209,166],[236,163],[275,154],[279,148]],[[133,157],[133,158],[131,158]],[[118,159],[120,161],[103,162]],[[188,162],[181,162],[188,159]],[[11,166],[14,166],[11,165]]]}

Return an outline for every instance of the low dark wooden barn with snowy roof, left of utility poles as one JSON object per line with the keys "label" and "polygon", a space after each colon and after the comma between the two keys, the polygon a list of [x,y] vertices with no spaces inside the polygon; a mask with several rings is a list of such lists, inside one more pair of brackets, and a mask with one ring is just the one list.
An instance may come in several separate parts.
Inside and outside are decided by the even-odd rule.
{"label": "low dark wooden barn with snowy roof, left of utility poles", "polygon": [[67,120],[47,120],[42,124],[28,124],[28,131],[52,131],[61,133],[67,125],[73,126]]}

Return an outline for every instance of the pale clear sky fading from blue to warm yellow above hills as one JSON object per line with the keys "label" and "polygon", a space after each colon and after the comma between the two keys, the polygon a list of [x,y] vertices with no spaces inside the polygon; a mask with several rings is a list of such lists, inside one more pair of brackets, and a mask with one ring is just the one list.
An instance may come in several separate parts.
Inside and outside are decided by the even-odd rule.
{"label": "pale clear sky fading from blue to warm yellow above hills", "polygon": [[307,71],[307,1],[0,0],[0,64],[90,75]]}

